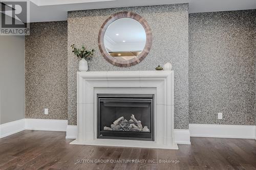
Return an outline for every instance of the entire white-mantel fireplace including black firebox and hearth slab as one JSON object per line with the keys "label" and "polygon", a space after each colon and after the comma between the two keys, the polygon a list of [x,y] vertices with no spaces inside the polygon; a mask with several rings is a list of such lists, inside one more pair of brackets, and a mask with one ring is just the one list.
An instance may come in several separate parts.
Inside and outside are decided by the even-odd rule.
{"label": "entire white-mantel fireplace including black firebox and hearth slab", "polygon": [[78,71],[77,127],[71,144],[178,149],[174,71]]}

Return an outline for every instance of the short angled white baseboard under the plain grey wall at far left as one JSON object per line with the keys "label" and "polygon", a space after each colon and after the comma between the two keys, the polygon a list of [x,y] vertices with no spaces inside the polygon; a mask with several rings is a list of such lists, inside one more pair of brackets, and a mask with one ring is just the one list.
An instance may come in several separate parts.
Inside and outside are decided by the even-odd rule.
{"label": "short angled white baseboard under the plain grey wall at far left", "polygon": [[25,130],[25,118],[0,125],[0,138]]}

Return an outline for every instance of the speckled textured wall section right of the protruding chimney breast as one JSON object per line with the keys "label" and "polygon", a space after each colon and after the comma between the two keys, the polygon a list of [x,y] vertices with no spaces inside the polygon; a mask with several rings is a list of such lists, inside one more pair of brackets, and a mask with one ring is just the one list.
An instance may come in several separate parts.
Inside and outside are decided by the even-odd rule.
{"label": "speckled textured wall section right of the protruding chimney breast", "polygon": [[189,14],[189,123],[254,125],[255,16]]}

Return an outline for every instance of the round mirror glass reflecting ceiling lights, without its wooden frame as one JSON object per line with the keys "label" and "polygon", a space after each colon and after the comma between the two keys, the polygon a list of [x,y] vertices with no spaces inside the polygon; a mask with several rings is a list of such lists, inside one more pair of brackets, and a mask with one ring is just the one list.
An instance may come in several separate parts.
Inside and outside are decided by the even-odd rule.
{"label": "round mirror glass reflecting ceiling lights, without its wooden frame", "polygon": [[112,22],[104,34],[104,46],[108,53],[120,60],[137,57],[146,44],[146,32],[135,19],[120,18]]}

